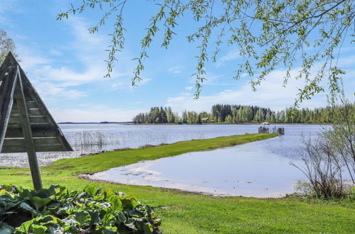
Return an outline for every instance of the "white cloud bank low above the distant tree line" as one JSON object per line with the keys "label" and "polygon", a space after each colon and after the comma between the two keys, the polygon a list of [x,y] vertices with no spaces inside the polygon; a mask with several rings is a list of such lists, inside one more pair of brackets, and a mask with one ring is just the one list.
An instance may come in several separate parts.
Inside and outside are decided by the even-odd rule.
{"label": "white cloud bank low above the distant tree line", "polygon": [[[291,74],[297,74],[297,69],[291,71]],[[354,99],[351,90],[355,89],[355,80],[353,79],[355,70],[350,70],[346,73],[346,90],[348,90],[348,98]],[[226,89],[217,94],[200,96],[200,99],[194,100],[193,94],[179,94],[179,96],[169,97],[166,101],[166,106],[171,106],[177,111],[184,109],[194,111],[209,111],[213,104],[244,104],[270,107],[275,110],[283,109],[287,106],[292,106],[295,98],[299,93],[298,88],[302,88],[304,83],[300,79],[290,79],[286,87],[282,87],[282,77],[285,76],[284,70],[275,70],[265,78],[265,81],[258,87],[257,91],[252,91],[250,84],[244,84],[239,89]],[[325,88],[327,81],[324,80]],[[352,87],[352,88],[351,88]],[[325,94],[314,96],[310,101],[304,101],[302,106],[309,108],[325,106],[327,98]]]}

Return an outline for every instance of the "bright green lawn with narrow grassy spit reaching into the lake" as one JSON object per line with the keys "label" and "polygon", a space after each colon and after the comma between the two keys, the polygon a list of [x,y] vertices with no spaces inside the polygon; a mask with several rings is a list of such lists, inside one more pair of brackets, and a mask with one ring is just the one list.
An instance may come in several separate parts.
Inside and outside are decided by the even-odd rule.
{"label": "bright green lawn with narrow grassy spit reaching into the lake", "polygon": [[[63,159],[41,167],[44,186],[61,184],[81,189],[87,184],[134,194],[154,207],[164,233],[352,233],[355,204],[301,201],[300,199],[254,199],[213,197],[174,189],[90,182],[78,174],[100,172],[141,160],[211,150],[265,140],[276,134],[233,135],[190,140],[171,145],[106,152],[75,159]],[[29,169],[0,167],[1,184],[31,186]]]}

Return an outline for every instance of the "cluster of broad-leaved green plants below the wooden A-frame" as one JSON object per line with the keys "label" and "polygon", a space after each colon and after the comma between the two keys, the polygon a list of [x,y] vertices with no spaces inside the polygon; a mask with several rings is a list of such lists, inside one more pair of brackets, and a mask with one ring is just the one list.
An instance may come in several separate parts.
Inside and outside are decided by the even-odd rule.
{"label": "cluster of broad-leaved green plants below the wooden A-frame", "polygon": [[113,190],[0,186],[0,233],[159,233],[148,205]]}

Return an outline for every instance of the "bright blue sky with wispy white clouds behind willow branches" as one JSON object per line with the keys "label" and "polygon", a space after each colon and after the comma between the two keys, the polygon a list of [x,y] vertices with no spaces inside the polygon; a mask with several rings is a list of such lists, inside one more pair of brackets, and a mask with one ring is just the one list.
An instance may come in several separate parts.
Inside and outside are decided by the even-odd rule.
{"label": "bright blue sky with wispy white clouds behind willow branches", "polygon": [[[18,59],[55,121],[132,121],[151,106],[171,106],[174,111],[210,111],[213,104],[242,104],[281,110],[292,106],[302,80],[291,79],[282,87],[285,69],[278,68],[253,91],[250,78],[233,79],[240,62],[238,48],[223,46],[216,63],[208,62],[208,78],[200,99],[194,99],[196,44],[189,44],[186,34],[194,32],[190,18],[181,21],[168,50],[160,48],[161,35],[148,50],[142,82],[132,87],[131,78],[140,52],[139,40],[149,26],[149,18],[158,6],[151,1],[127,1],[124,23],[127,29],[125,48],[118,57],[111,78],[106,74],[105,59],[110,45],[112,21],[99,33],[90,34],[102,12],[88,11],[68,20],[57,21],[60,11],[75,0],[6,0],[0,1],[0,29],[6,30],[17,46]],[[137,4],[138,3],[138,4]],[[355,101],[354,45],[344,45],[339,65],[346,98]],[[292,74],[297,73],[297,67]],[[327,84],[324,84],[327,86]],[[304,101],[301,107],[327,105],[326,94]]]}

